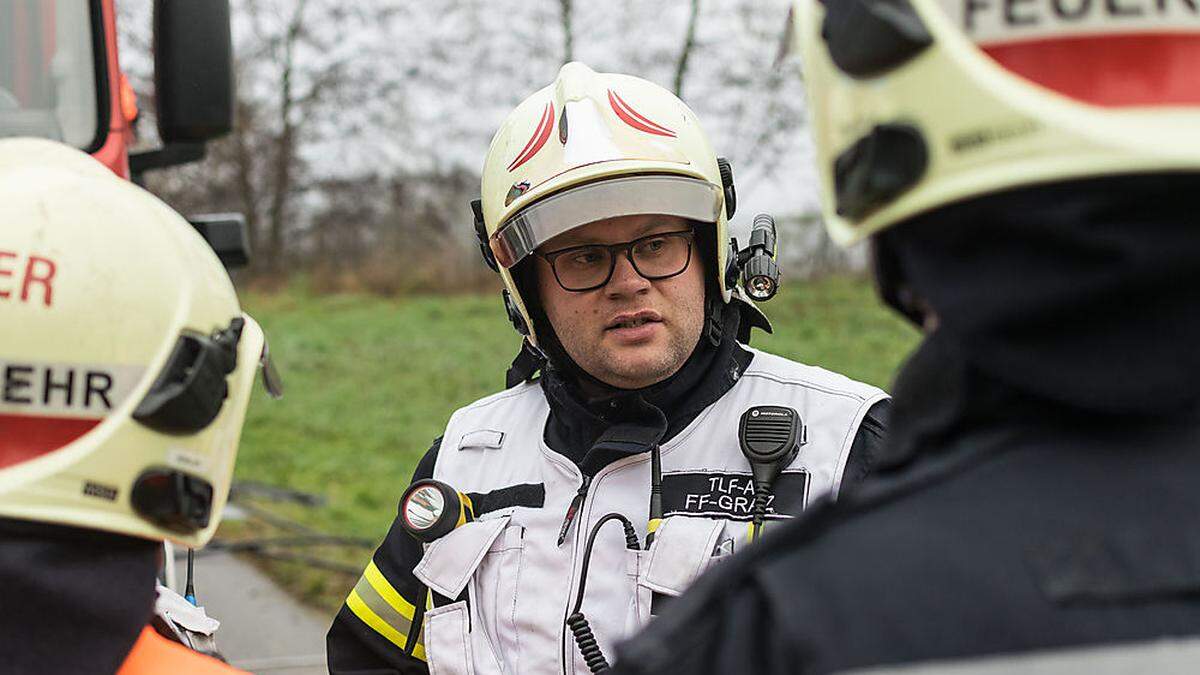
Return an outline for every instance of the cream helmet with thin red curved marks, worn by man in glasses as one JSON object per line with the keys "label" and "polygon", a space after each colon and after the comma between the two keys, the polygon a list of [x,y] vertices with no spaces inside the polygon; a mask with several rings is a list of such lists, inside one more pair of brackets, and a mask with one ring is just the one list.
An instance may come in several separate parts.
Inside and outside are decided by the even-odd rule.
{"label": "cream helmet with thin red curved marks, worn by man in glasses", "polygon": [[732,173],[696,114],[644,79],[564,65],[500,125],[484,161],[481,203],[473,205],[484,257],[500,273],[510,318],[532,345],[530,299],[521,297],[512,267],[551,238],[599,220],[662,214],[712,223],[716,259],[708,262],[730,300]]}

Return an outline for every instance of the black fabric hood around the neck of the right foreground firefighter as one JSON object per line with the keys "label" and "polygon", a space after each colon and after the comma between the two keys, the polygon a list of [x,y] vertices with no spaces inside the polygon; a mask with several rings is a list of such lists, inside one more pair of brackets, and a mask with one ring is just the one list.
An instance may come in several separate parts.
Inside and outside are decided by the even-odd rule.
{"label": "black fabric hood around the neck of the right foreground firefighter", "polygon": [[881,289],[936,313],[931,351],[1015,394],[1176,414],[1200,404],[1198,193],[1200,175],[1132,175],[947,207],[877,238]]}

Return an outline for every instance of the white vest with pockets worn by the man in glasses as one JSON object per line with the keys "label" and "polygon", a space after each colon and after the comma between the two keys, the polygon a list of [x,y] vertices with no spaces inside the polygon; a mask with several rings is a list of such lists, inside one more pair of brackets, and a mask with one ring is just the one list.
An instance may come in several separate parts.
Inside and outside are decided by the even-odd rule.
{"label": "white vest with pockets worn by the man in glasses", "polygon": [[[806,428],[806,444],[775,483],[768,519],[780,519],[816,497],[836,496],[858,425],[884,398],[869,384],[755,351],[742,378],[662,444],[666,518],[653,546],[626,549],[616,522],[596,538],[582,611],[605,653],[648,621],[653,605],[745,545],[754,491],[738,420],[746,408],[788,406]],[[541,388],[524,383],[450,418],[434,478],[461,492],[521,485],[542,498],[540,507],[486,513],[426,546],[413,572],[432,591],[424,625],[431,673],[588,673],[565,627],[584,543],[593,525],[616,512],[634,522],[644,544],[649,453],[614,461],[584,482],[575,464],[546,446],[548,414]],[[582,502],[559,545],[577,495]]]}

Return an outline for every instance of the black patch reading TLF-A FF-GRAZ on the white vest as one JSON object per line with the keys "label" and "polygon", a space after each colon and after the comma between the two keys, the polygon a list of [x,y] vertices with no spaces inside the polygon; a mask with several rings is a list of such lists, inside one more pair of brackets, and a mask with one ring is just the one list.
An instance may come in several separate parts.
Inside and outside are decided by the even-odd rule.
{"label": "black patch reading TLF-A FF-GRAZ on the white vest", "polygon": [[[799,515],[808,501],[809,473],[785,471],[772,486],[767,518]],[[664,473],[662,512],[749,521],[754,516],[754,478],[749,473]]]}

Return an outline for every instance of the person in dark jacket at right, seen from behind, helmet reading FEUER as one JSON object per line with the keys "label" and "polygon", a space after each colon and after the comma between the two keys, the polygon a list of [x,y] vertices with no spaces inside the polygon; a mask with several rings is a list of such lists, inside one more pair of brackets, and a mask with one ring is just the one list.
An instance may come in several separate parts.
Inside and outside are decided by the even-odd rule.
{"label": "person in dark jacket at right, seen from behind, helmet reading FEUER", "polygon": [[926,333],[875,490],[620,673],[1200,663],[1200,8],[802,0],[826,222]]}

